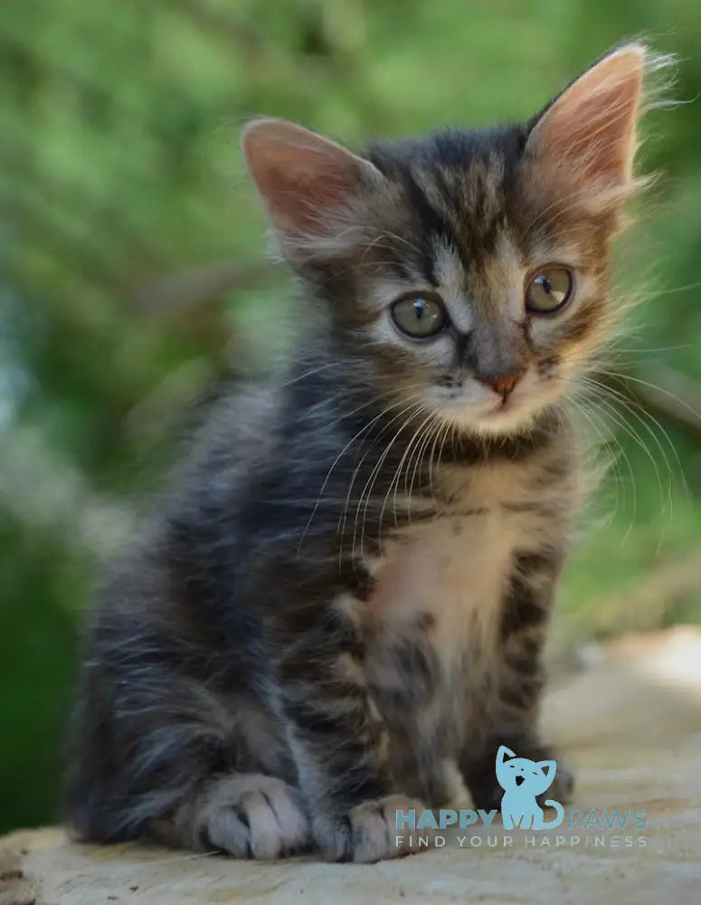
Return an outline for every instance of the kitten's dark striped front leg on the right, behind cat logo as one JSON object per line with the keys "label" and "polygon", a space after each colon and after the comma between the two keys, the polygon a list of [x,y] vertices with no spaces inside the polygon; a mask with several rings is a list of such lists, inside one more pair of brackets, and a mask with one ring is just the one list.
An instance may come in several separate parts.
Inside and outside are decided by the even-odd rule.
{"label": "kitten's dark striped front leg on the right, behind cat logo", "polygon": [[[486,739],[478,748],[470,745],[468,727],[468,744],[460,761],[478,807],[498,808],[504,795],[495,770],[500,745],[534,761],[558,759],[553,749],[540,741],[537,720],[545,686],[545,629],[562,562],[562,552],[552,549],[514,558],[499,624],[496,687],[485,705]],[[573,774],[558,760],[554,783],[540,798],[565,802],[572,796],[573,785]]]}

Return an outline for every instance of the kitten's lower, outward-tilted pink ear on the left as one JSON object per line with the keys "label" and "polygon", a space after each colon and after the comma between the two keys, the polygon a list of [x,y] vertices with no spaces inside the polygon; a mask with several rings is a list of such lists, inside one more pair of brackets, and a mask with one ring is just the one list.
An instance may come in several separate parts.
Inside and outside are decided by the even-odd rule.
{"label": "kitten's lower, outward-tilted pink ear on the left", "polygon": [[383,179],[368,160],[287,119],[249,123],[242,148],[283,241],[331,238],[364,191]]}

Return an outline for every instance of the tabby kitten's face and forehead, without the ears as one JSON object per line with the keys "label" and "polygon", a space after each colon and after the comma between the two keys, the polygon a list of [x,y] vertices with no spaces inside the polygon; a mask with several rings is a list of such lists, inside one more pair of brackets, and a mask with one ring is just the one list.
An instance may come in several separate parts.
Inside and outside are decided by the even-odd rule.
{"label": "tabby kitten's face and forehead, without the ears", "polygon": [[385,390],[473,433],[552,405],[611,316],[607,224],[540,190],[519,144],[509,129],[371,153],[385,184],[338,281]]}

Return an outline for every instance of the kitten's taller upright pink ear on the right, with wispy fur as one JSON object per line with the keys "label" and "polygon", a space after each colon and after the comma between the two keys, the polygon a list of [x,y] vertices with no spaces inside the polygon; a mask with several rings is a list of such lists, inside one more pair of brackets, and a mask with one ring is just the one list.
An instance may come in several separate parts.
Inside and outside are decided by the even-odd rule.
{"label": "kitten's taller upright pink ear on the right, with wispy fur", "polygon": [[595,62],[536,119],[526,149],[582,188],[630,185],[646,55],[630,43]]}

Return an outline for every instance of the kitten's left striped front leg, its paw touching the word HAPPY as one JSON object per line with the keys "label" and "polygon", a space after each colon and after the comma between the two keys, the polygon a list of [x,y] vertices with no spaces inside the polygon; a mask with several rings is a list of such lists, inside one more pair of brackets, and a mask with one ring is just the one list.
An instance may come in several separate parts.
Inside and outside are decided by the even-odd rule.
{"label": "kitten's left striped front leg, its paw touching the word HAPPY", "polygon": [[[276,709],[327,861],[374,862],[417,851],[397,810],[424,805],[393,787],[389,738],[365,681],[365,644],[348,595],[288,615],[276,662]],[[290,641],[290,639],[292,639]],[[400,843],[397,844],[398,838]]]}

